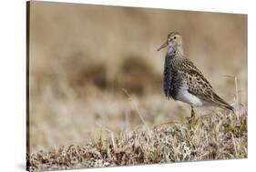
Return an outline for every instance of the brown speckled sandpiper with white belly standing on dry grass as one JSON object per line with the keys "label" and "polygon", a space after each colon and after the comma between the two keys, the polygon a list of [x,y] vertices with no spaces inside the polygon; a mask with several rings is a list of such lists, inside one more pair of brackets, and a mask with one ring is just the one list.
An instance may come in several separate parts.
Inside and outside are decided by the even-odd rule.
{"label": "brown speckled sandpiper with white belly standing on dry grass", "polygon": [[217,106],[234,112],[234,107],[216,94],[200,69],[184,55],[179,32],[171,32],[158,51],[166,46],[168,50],[163,71],[165,96],[189,104],[191,117],[195,115],[194,108],[199,106]]}

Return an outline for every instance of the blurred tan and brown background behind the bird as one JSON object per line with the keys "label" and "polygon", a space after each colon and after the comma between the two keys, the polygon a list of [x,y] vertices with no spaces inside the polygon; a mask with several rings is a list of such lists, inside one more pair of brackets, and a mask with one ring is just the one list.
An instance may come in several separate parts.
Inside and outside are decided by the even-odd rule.
{"label": "blurred tan and brown background behind the bird", "polygon": [[184,121],[190,107],[162,92],[171,31],[231,105],[237,76],[247,106],[247,15],[32,2],[29,30],[32,153]]}

